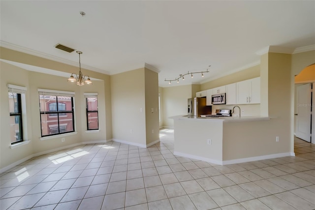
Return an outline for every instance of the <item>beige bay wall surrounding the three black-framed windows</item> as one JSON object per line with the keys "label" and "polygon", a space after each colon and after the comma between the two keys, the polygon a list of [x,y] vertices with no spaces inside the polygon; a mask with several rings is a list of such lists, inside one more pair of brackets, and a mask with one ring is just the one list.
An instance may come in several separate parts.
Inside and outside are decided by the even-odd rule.
{"label": "beige bay wall surrounding the three black-framed windows", "polygon": [[[17,76],[18,75],[18,76]],[[67,78],[51,74],[28,71],[19,67],[0,62],[0,81],[1,81],[1,110],[0,110],[0,168],[4,168],[19,160],[30,157],[33,154],[66,147],[73,144],[81,144],[85,141],[99,141],[106,139],[106,113],[105,113],[105,85],[103,80],[94,80],[93,85],[77,86],[67,82]],[[11,149],[8,114],[8,88],[7,84],[27,87],[26,106],[28,139],[30,143]],[[65,141],[61,141],[61,136],[57,135],[47,140],[40,140],[41,125],[38,110],[38,88],[75,92],[74,111],[75,111],[75,130],[77,134],[63,136]],[[85,110],[84,92],[98,93],[98,114],[99,132],[86,133],[87,119]],[[6,158],[6,157],[10,158]]]}

